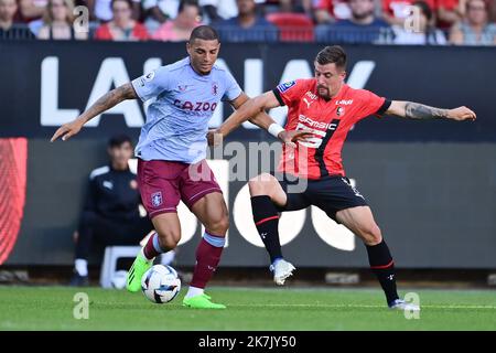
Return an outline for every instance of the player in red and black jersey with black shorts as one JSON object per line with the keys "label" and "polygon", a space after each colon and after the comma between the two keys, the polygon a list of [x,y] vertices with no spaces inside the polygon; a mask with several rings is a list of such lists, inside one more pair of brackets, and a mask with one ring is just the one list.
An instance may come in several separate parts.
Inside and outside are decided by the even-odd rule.
{"label": "player in red and black jersey with black shorts", "polygon": [[[283,285],[294,266],[282,257],[279,212],[315,205],[365,243],[371,270],[386,293],[389,308],[420,310],[398,297],[395,266],[380,228],[364,196],[351,185],[341,151],[349,129],[368,116],[393,115],[409,119],[474,120],[466,107],[440,109],[411,101],[389,100],[345,84],[346,53],[341,46],[323,49],[314,61],[315,77],[288,82],[251,98],[218,129],[226,136],[239,124],[265,109],[288,106],[288,130],[308,130],[313,137],[283,148],[278,173],[249,181],[254,221],[270,255],[276,284]],[[282,176],[280,175],[282,174]],[[277,178],[281,176],[281,178]],[[292,184],[306,181],[304,190]]]}

